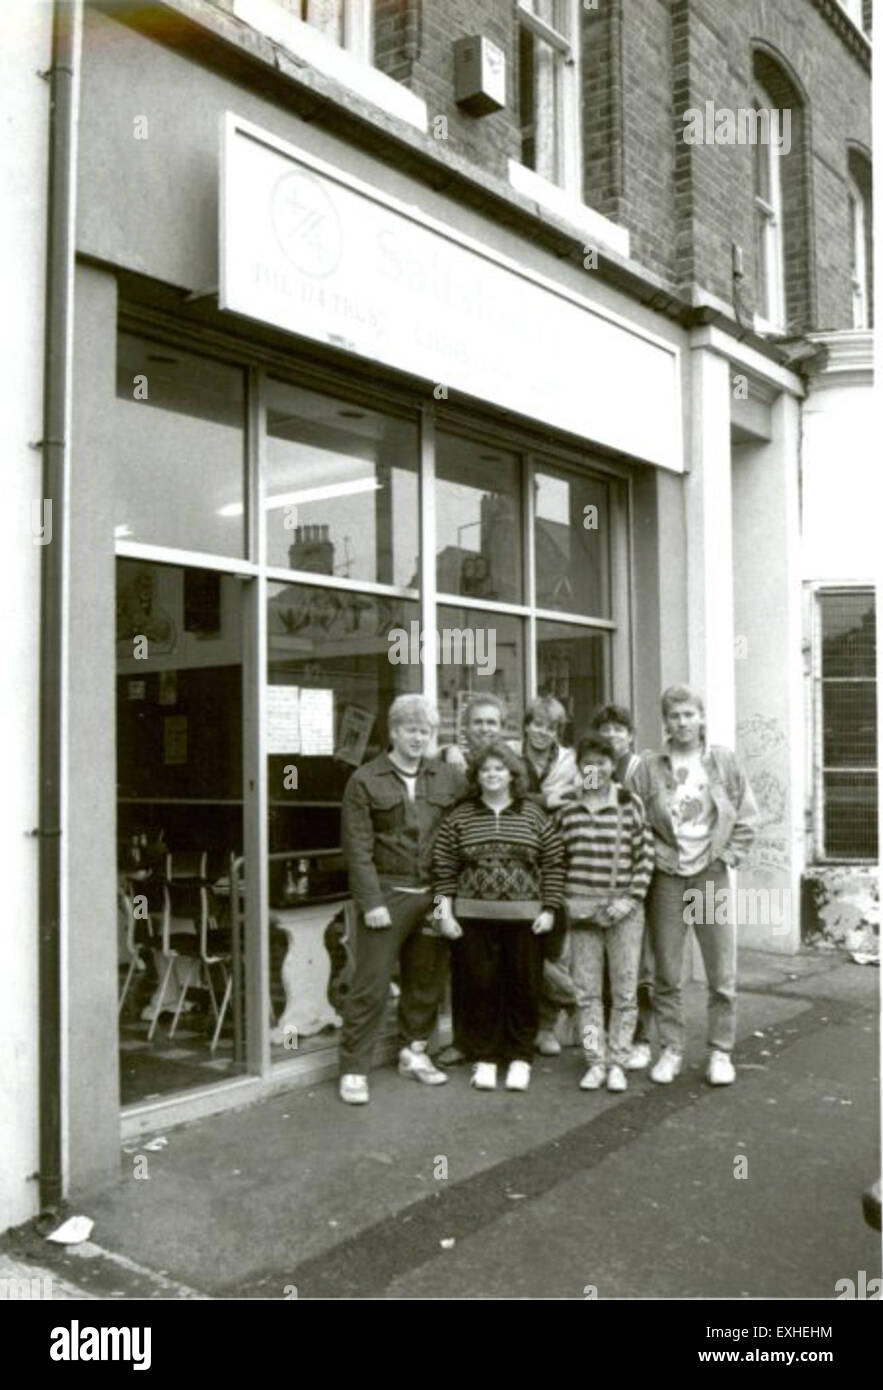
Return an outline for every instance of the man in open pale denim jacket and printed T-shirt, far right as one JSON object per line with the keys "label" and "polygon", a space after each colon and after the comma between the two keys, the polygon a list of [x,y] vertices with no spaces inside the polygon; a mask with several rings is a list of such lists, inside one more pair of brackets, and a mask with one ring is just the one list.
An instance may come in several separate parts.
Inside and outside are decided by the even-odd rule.
{"label": "man in open pale denim jacket and printed T-shirt, far right", "polygon": [[[705,708],[695,692],[686,685],[669,687],[662,695],[662,716],[666,746],[645,753],[631,780],[656,848],[649,910],[662,1052],[649,1074],[667,1083],[681,1069],[681,974],[691,924],[708,976],[708,1080],[727,1086],[736,1080],[730,1059],[736,1042],[736,923],[729,910],[729,870],[751,847],[756,806],[736,755],[705,742]],[[727,903],[723,922],[718,913],[716,920],[704,920],[704,913],[697,920],[688,905],[715,902],[720,890]]]}

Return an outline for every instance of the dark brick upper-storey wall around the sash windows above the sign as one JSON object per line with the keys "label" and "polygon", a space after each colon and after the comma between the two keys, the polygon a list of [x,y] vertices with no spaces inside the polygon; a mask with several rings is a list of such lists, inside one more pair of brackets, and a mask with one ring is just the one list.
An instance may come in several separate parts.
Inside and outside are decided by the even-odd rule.
{"label": "dark brick upper-storey wall around the sash windows above the sign", "polygon": [[[683,114],[748,108],[761,78],[791,111],[781,158],[790,332],[851,327],[850,146],[870,147],[870,81],[855,33],[827,0],[598,0],[580,7],[584,200],[626,225],[631,253],[683,292],[747,321],[758,296],[754,152],[687,145]],[[505,111],[453,101],[455,39],[506,54]],[[759,56],[758,56],[759,54]],[[375,0],[378,67],[446,118],[452,149],[506,178],[519,157],[516,0]],[[430,126],[432,128],[432,124]],[[434,132],[438,135],[438,132]],[[744,275],[733,282],[733,243]]]}

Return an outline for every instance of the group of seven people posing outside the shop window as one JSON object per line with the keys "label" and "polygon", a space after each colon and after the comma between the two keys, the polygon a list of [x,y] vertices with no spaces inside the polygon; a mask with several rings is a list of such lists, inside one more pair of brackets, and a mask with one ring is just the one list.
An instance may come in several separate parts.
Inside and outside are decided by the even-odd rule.
{"label": "group of seven people posing outside the shop window", "polygon": [[[339,1094],[368,1101],[368,1070],[399,967],[399,1073],[428,1086],[471,1063],[471,1084],[524,1091],[538,1051],[578,1029],[583,1090],[627,1088],[627,1073],[674,1080],[684,1054],[684,903],[727,885],[756,808],[734,753],[705,739],[701,696],[662,695],[659,752],[637,756],[630,712],[605,705],[576,749],[563,706],[531,701],[521,752],[503,706],[474,695],[466,749],[428,749],[432,705],[402,695],[389,748],[343,794],[342,842],[357,909],[342,1004]],[[690,898],[687,897],[690,894]],[[708,979],[708,1080],[736,1072],[736,929],[694,924]],[[453,1041],[430,1038],[451,979]],[[562,1013],[566,1020],[562,1020]]]}

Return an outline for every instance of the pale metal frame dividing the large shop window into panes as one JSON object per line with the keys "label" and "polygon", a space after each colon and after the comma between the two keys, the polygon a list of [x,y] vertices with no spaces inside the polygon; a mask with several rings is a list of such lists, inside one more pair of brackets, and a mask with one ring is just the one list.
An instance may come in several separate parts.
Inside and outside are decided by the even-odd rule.
{"label": "pale metal frame dividing the large shop window into panes", "polygon": [[[396,386],[359,377],[359,364],[328,367],[309,360],[299,352],[282,354],[264,343],[248,341],[214,327],[181,322],[164,310],[135,303],[121,303],[117,332],[131,332],[168,348],[186,349],[203,357],[239,367],[246,378],[243,413],[243,556],[224,556],[202,550],[170,548],[152,542],[114,541],[114,559],[139,559],[153,564],[178,564],[207,569],[217,574],[236,575],[242,581],[242,834],[245,858],[245,1072],[221,1077],[202,1087],[171,1093],[161,1101],[142,1101],[121,1106],[124,1133],[136,1133],[147,1115],[157,1122],[172,1123],[197,1113],[214,1113],[227,1104],[241,1104],[243,1095],[254,1097],[282,1084],[285,1079],[316,1077],[330,1068],[331,1048],[303,1056],[274,1061],[271,1055],[271,1023],[267,1009],[270,998],[270,788],[267,773],[267,598],[275,582],[307,584],[348,592],[375,594],[420,602],[424,630],[437,626],[438,606],[455,606],[471,612],[501,613],[523,623],[523,682],[524,698],[537,694],[537,623],[551,620],[608,632],[605,681],[608,694],[633,703],[633,480],[626,464],[609,460],[603,450],[538,442],[530,424],[512,425],[488,418],[483,410],[469,404],[451,406],[445,402],[416,398],[413,386]],[[362,364],[363,366],[363,364]],[[419,427],[419,527],[420,527],[420,592],[394,584],[367,580],[348,580],[339,575],[316,574],[310,570],[280,569],[267,564],[264,527],[264,480],[267,450],[267,395],[268,378],[325,395],[345,398],[368,409],[385,410],[412,418]],[[114,388],[115,389],[115,388]],[[467,595],[438,592],[435,582],[435,432],[459,434],[476,442],[509,448],[519,455],[521,468],[521,524],[523,524],[523,602],[502,603]],[[567,613],[556,609],[537,609],[534,567],[534,473],[555,470],[574,480],[595,475],[617,484],[609,492],[610,506],[610,617]],[[423,694],[437,701],[437,670],[432,663],[421,664]],[[221,1099],[218,1101],[218,1097]]]}

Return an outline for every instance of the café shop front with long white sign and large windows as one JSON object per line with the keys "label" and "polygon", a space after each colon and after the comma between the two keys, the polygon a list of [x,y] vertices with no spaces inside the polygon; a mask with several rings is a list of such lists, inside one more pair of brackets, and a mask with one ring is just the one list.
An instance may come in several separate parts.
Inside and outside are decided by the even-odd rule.
{"label": "caf\u00e9 shop front with long white sign and large windows", "polygon": [[[71,498],[68,777],[90,808],[68,847],[81,1182],[107,1170],[120,1115],[140,1133],[335,1070],[341,796],[385,746],[396,695],[434,699],[452,742],[476,691],[502,699],[510,739],[552,694],[573,737],[602,699],[649,726],[684,662],[666,598],[684,552],[679,331],[147,51],[127,63],[138,100],[182,74],[202,99],[184,150],[139,150],[138,179],[106,117],[122,103],[113,50],[89,51],[85,88],[99,202],[78,229]],[[192,235],[206,202],[211,246]],[[663,532],[676,557],[661,567]]]}

